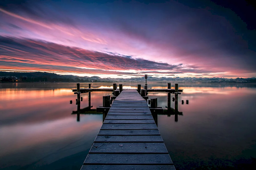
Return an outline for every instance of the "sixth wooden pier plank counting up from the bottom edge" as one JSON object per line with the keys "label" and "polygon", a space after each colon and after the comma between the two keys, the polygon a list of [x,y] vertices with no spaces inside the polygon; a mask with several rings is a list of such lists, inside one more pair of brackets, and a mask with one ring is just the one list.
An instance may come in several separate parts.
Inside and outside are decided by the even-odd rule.
{"label": "sixth wooden pier plank counting up from the bottom edge", "polygon": [[110,129],[123,129],[123,130],[132,130],[132,129],[157,129],[156,124],[103,124],[101,130],[110,130]]}

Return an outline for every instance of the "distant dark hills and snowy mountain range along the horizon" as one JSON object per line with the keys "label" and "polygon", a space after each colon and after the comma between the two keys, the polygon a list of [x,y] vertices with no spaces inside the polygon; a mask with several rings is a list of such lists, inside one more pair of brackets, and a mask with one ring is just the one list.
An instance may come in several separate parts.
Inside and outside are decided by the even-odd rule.
{"label": "distant dark hills and snowy mountain range along the horizon", "polygon": [[[101,78],[98,76],[74,76],[59,75],[46,72],[4,72],[0,71],[1,82],[145,82],[144,77],[123,78]],[[177,82],[177,83],[256,83],[256,78],[196,78],[196,77],[151,77],[148,82]]]}

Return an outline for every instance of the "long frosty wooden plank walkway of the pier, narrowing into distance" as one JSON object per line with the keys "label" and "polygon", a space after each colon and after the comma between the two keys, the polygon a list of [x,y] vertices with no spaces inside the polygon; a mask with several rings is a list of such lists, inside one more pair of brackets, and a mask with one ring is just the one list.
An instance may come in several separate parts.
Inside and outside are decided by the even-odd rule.
{"label": "long frosty wooden plank walkway of the pier, narrowing into distance", "polygon": [[113,101],[81,170],[171,169],[173,162],[153,116],[137,90]]}

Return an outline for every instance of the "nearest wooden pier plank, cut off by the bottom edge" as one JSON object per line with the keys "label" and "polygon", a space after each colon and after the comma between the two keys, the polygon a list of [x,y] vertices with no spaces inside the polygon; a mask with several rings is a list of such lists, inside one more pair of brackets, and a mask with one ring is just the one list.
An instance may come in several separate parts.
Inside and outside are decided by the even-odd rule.
{"label": "nearest wooden pier plank, cut off by the bottom edge", "polygon": [[173,165],[83,165],[80,170],[175,170]]}

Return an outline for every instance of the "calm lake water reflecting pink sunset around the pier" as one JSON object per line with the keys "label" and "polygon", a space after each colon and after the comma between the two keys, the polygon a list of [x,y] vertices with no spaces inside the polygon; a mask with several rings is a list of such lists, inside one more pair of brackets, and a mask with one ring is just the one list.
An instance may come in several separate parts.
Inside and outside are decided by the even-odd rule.
{"label": "calm lake water reflecting pink sunset around the pier", "polygon": [[[123,88],[137,84],[122,83]],[[92,88],[112,88],[93,83]],[[172,84],[172,88],[174,84]],[[80,83],[88,88],[88,83]],[[164,84],[148,84],[148,88]],[[102,125],[102,114],[77,115],[76,83],[0,84],[0,168],[79,170]],[[255,84],[179,84],[183,115],[158,115],[158,128],[176,169],[251,169],[256,158]],[[102,105],[92,92],[91,105]],[[167,93],[148,93],[165,109]],[[81,94],[81,108],[88,94]],[[171,97],[174,97],[172,95]],[[69,101],[73,100],[73,104]],[[182,105],[181,100],[185,103]],[[189,100],[189,104],[186,104]],[[171,103],[174,108],[174,102]],[[252,168],[252,169],[254,169]]]}

